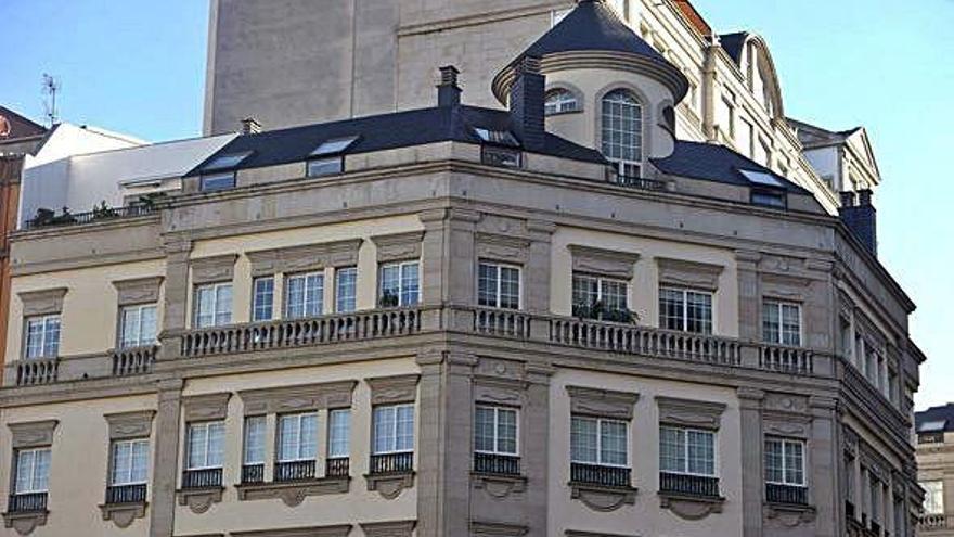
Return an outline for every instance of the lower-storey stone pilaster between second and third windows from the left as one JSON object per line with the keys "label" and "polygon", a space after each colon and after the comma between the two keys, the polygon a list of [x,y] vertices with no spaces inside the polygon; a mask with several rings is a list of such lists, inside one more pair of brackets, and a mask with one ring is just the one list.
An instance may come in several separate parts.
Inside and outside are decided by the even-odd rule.
{"label": "lower-storey stone pilaster between second and third windows from the left", "polygon": [[176,519],[176,484],[179,481],[179,409],[181,379],[159,381],[156,411],[156,445],[153,457],[150,537],[172,537]]}

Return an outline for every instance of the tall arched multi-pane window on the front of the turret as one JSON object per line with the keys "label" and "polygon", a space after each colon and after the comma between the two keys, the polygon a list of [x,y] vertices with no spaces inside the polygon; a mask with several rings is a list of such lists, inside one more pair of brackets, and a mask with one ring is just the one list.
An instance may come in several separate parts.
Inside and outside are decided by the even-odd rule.
{"label": "tall arched multi-pane window on the front of the turret", "polygon": [[627,90],[603,98],[601,115],[603,156],[617,165],[621,177],[639,178],[643,163],[643,105]]}

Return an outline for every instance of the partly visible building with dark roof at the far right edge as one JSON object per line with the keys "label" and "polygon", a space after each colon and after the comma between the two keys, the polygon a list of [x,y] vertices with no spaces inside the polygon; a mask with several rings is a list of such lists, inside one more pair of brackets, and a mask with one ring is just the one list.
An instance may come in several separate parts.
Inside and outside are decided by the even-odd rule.
{"label": "partly visible building with dark roof at the far right edge", "polygon": [[917,476],[925,490],[918,535],[954,535],[954,404],[915,414]]}

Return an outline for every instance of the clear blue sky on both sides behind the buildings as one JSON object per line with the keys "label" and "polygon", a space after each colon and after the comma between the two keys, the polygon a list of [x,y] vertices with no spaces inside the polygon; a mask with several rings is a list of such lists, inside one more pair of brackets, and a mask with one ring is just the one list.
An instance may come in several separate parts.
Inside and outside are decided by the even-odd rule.
{"label": "clear blue sky on both sides behind the buildings", "polygon": [[[373,0],[372,0],[373,1]],[[882,184],[879,256],[918,304],[918,409],[954,401],[954,0],[694,0],[719,33],[763,36],[788,116],[867,128]],[[202,130],[207,0],[0,0],[0,104],[160,141]],[[12,43],[12,47],[11,47]]]}

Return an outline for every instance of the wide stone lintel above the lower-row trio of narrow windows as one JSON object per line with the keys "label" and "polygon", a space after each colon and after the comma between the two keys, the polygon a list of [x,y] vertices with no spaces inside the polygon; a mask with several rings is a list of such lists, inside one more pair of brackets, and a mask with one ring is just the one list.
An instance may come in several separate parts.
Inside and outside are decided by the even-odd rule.
{"label": "wide stone lintel above the lower-row trio of narrow windows", "polygon": [[302,384],[238,392],[245,415],[350,408],[358,381]]}

